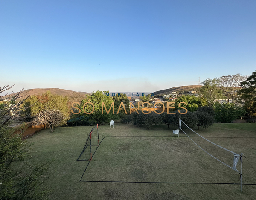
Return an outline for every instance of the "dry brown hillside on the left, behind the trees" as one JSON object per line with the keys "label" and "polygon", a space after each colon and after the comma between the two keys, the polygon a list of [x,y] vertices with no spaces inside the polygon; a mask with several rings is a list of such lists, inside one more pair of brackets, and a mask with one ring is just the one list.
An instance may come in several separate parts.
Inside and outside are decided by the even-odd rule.
{"label": "dry brown hillside on the left, behind the trees", "polygon": [[50,91],[52,94],[58,94],[61,96],[70,96],[71,94],[73,95],[74,93],[77,94],[90,94],[90,93],[86,93],[86,92],[75,92],[72,90],[64,90],[64,89],[59,89],[59,88],[35,88],[35,89],[28,89],[28,90],[24,90],[23,97],[20,99],[25,99],[27,96],[31,96],[31,95],[38,95],[38,94],[42,94],[45,93],[47,91]]}

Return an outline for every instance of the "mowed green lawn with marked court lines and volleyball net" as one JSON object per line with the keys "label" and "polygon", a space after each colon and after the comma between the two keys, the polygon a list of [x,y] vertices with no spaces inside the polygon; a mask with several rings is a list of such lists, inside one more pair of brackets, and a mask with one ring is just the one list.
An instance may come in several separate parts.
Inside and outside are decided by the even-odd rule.
{"label": "mowed green lawn with marked court lines and volleyball net", "polygon": [[[240,185],[196,184],[240,183],[239,174],[210,157],[184,133],[179,138],[172,136],[172,130],[177,127],[168,129],[167,125],[154,126],[151,130],[120,123],[114,128],[100,125],[99,139],[104,139],[84,173],[89,161],[76,159],[91,128],[60,127],[53,133],[42,130],[27,139],[36,142],[32,146],[32,162],[39,164],[55,159],[49,168],[53,175],[44,183],[54,189],[50,199],[255,199],[256,185],[244,185],[241,193]],[[224,148],[244,153],[250,164],[243,159],[243,183],[256,184],[253,170],[256,169],[256,124],[214,124],[196,132]],[[210,154],[233,166],[233,154],[216,148],[191,131],[187,133]],[[240,171],[240,160],[237,168]]]}

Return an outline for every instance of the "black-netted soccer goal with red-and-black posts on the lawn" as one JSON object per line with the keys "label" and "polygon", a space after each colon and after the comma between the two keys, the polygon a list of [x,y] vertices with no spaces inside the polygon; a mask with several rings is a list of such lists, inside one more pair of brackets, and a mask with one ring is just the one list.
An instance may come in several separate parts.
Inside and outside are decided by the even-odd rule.
{"label": "black-netted soccer goal with red-and-black posts on the lawn", "polygon": [[99,146],[99,128],[98,124],[92,128],[90,133],[87,134],[84,148],[78,157],[78,161],[92,160],[92,153],[95,151],[93,146]]}

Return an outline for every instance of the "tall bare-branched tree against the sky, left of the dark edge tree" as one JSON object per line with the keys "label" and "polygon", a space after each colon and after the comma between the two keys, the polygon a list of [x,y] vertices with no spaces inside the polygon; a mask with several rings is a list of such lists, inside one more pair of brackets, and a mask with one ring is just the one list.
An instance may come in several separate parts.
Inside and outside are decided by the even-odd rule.
{"label": "tall bare-branched tree against the sky, left of the dark edge tree", "polygon": [[224,94],[227,102],[234,102],[237,99],[237,92],[241,89],[241,83],[247,78],[247,75],[242,76],[241,74],[236,74],[221,76],[216,79],[218,87]]}

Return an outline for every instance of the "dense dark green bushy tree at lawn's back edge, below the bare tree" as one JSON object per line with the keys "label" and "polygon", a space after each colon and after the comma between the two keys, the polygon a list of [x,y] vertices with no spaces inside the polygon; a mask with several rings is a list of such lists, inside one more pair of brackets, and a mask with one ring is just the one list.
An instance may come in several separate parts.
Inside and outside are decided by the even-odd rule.
{"label": "dense dark green bushy tree at lawn's back edge, below the bare tree", "polygon": [[221,123],[231,123],[245,114],[245,110],[242,107],[238,107],[233,103],[215,104],[214,112],[216,122]]}

